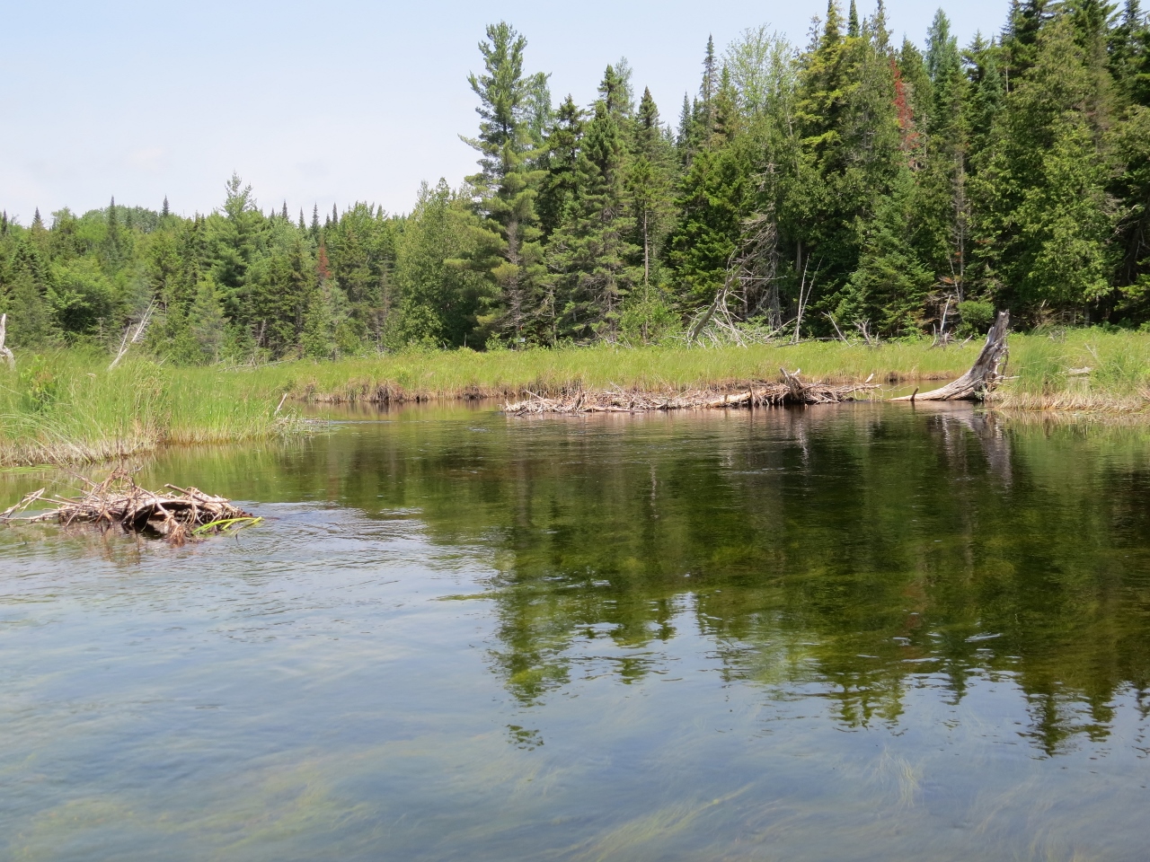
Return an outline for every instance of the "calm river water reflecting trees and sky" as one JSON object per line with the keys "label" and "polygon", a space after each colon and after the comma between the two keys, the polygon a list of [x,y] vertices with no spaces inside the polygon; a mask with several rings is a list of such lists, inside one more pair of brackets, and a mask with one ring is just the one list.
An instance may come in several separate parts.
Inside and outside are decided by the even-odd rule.
{"label": "calm river water reflecting trees and sky", "polygon": [[1150,432],[345,418],[0,530],[0,859],[1147,857]]}

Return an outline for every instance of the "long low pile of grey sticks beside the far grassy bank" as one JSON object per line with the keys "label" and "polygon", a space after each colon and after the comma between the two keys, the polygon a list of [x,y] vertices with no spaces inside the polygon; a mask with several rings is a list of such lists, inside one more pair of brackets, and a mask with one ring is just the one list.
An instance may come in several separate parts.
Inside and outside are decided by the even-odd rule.
{"label": "long low pile of grey sticks beside the far grassy bank", "polygon": [[528,393],[523,401],[504,405],[511,416],[539,416],[544,414],[585,415],[591,413],[652,413],[657,410],[731,410],[756,407],[784,407],[788,405],[827,405],[850,401],[858,392],[877,388],[869,380],[849,386],[825,383],[803,383],[798,371],[782,371],[781,383],[753,383],[745,391],[726,394],[692,390],[689,392],[652,393],[607,390],[576,392],[560,398],[544,398]]}

